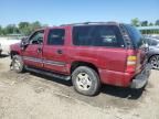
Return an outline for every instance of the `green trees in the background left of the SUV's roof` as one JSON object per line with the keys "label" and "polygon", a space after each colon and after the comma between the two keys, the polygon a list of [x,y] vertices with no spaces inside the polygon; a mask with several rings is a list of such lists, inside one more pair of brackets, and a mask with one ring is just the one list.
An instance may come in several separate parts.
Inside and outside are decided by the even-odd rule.
{"label": "green trees in the background left of the SUV's roof", "polygon": [[21,35],[30,35],[34,30],[44,28],[46,25],[40,23],[39,21],[35,22],[20,22],[18,25],[15,24],[8,24],[7,26],[2,28],[0,25],[0,35],[6,36],[9,34],[21,34]]}

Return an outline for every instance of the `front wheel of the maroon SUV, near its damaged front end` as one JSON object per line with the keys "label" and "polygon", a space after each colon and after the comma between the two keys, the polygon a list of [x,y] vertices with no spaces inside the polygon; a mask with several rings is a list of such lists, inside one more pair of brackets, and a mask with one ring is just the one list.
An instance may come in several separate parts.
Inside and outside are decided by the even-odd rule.
{"label": "front wheel of the maroon SUV, near its damaged front end", "polygon": [[24,64],[23,64],[22,57],[19,55],[14,55],[12,57],[11,67],[17,73],[23,73],[24,72]]}

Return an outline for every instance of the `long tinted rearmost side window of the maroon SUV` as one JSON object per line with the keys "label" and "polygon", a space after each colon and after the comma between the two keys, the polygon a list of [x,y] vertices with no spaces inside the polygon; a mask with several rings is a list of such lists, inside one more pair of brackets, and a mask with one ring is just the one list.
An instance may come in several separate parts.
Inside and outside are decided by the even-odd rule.
{"label": "long tinted rearmost side window of the maroon SUV", "polygon": [[124,47],[124,40],[116,25],[74,26],[73,44],[82,46]]}

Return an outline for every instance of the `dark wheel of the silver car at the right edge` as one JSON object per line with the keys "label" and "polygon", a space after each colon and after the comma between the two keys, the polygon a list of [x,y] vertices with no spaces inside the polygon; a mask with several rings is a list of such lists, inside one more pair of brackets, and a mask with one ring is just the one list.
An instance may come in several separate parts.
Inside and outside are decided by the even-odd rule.
{"label": "dark wheel of the silver car at the right edge", "polygon": [[150,57],[149,63],[153,69],[159,69],[159,55],[153,55]]}

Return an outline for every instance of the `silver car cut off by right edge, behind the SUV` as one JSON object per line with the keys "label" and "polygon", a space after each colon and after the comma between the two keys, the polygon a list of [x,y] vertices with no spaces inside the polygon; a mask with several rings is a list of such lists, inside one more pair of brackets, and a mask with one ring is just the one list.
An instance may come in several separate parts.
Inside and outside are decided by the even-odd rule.
{"label": "silver car cut off by right edge, behind the SUV", "polygon": [[145,37],[149,44],[148,62],[152,68],[159,69],[159,40],[153,37]]}

